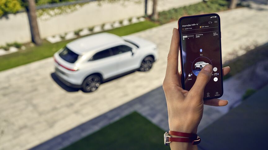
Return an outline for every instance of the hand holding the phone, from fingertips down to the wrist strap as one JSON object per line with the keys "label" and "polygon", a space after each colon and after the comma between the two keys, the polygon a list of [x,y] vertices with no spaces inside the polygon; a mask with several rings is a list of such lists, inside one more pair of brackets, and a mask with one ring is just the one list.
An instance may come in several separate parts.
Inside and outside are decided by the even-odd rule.
{"label": "hand holding the phone, from fingertips down to the wrist strap", "polygon": [[[180,34],[173,29],[173,35],[168,53],[168,65],[163,81],[163,89],[168,106],[168,123],[171,131],[197,133],[197,127],[203,116],[203,105],[226,106],[227,100],[203,100],[204,88],[211,78],[212,65],[206,65],[199,72],[190,91],[183,90],[181,73],[178,72]],[[223,75],[230,72],[230,67],[222,69]],[[178,142],[175,142],[178,143]]]}

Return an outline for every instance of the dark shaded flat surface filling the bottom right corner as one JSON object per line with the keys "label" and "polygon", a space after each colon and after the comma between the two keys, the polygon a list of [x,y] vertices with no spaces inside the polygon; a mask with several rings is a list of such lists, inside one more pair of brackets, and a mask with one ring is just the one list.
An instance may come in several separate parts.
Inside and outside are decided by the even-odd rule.
{"label": "dark shaded flat surface filling the bottom right corner", "polygon": [[199,133],[200,150],[267,149],[268,85]]}

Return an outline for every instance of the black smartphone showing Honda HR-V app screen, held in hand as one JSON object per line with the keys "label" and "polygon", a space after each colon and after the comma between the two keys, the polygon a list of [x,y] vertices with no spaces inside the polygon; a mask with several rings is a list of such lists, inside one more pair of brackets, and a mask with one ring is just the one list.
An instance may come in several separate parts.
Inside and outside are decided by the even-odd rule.
{"label": "black smartphone showing Honda HR-V app screen, held in hand", "polygon": [[210,64],[213,72],[204,99],[220,98],[223,94],[220,16],[213,13],[181,17],[178,27],[183,89],[190,90],[200,70]]}

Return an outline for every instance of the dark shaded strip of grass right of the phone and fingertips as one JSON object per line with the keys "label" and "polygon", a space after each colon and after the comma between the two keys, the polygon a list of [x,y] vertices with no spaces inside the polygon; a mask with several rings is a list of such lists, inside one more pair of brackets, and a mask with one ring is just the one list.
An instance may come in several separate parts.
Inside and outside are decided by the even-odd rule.
{"label": "dark shaded strip of grass right of the phone and fingertips", "polygon": [[[231,54],[230,54],[231,55]],[[225,63],[223,67],[230,66],[231,72],[223,77],[223,80],[240,73],[244,69],[256,64],[259,61],[268,59],[268,43],[248,50],[245,54],[236,57]]]}

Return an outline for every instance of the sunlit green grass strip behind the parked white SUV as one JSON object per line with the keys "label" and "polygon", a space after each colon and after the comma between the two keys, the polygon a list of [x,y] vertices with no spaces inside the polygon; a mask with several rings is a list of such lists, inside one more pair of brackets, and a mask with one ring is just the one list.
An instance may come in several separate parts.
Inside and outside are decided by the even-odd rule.
{"label": "sunlit green grass strip behind the parked white SUV", "polygon": [[[105,32],[123,36],[156,26],[158,26],[157,23],[153,23],[151,21],[144,21],[124,27],[115,28]],[[60,48],[64,47],[70,41],[72,40],[62,41],[54,44],[44,41],[41,46],[27,46],[26,50],[20,50],[19,52],[0,56],[0,71],[51,57],[55,52],[57,52]]]}

